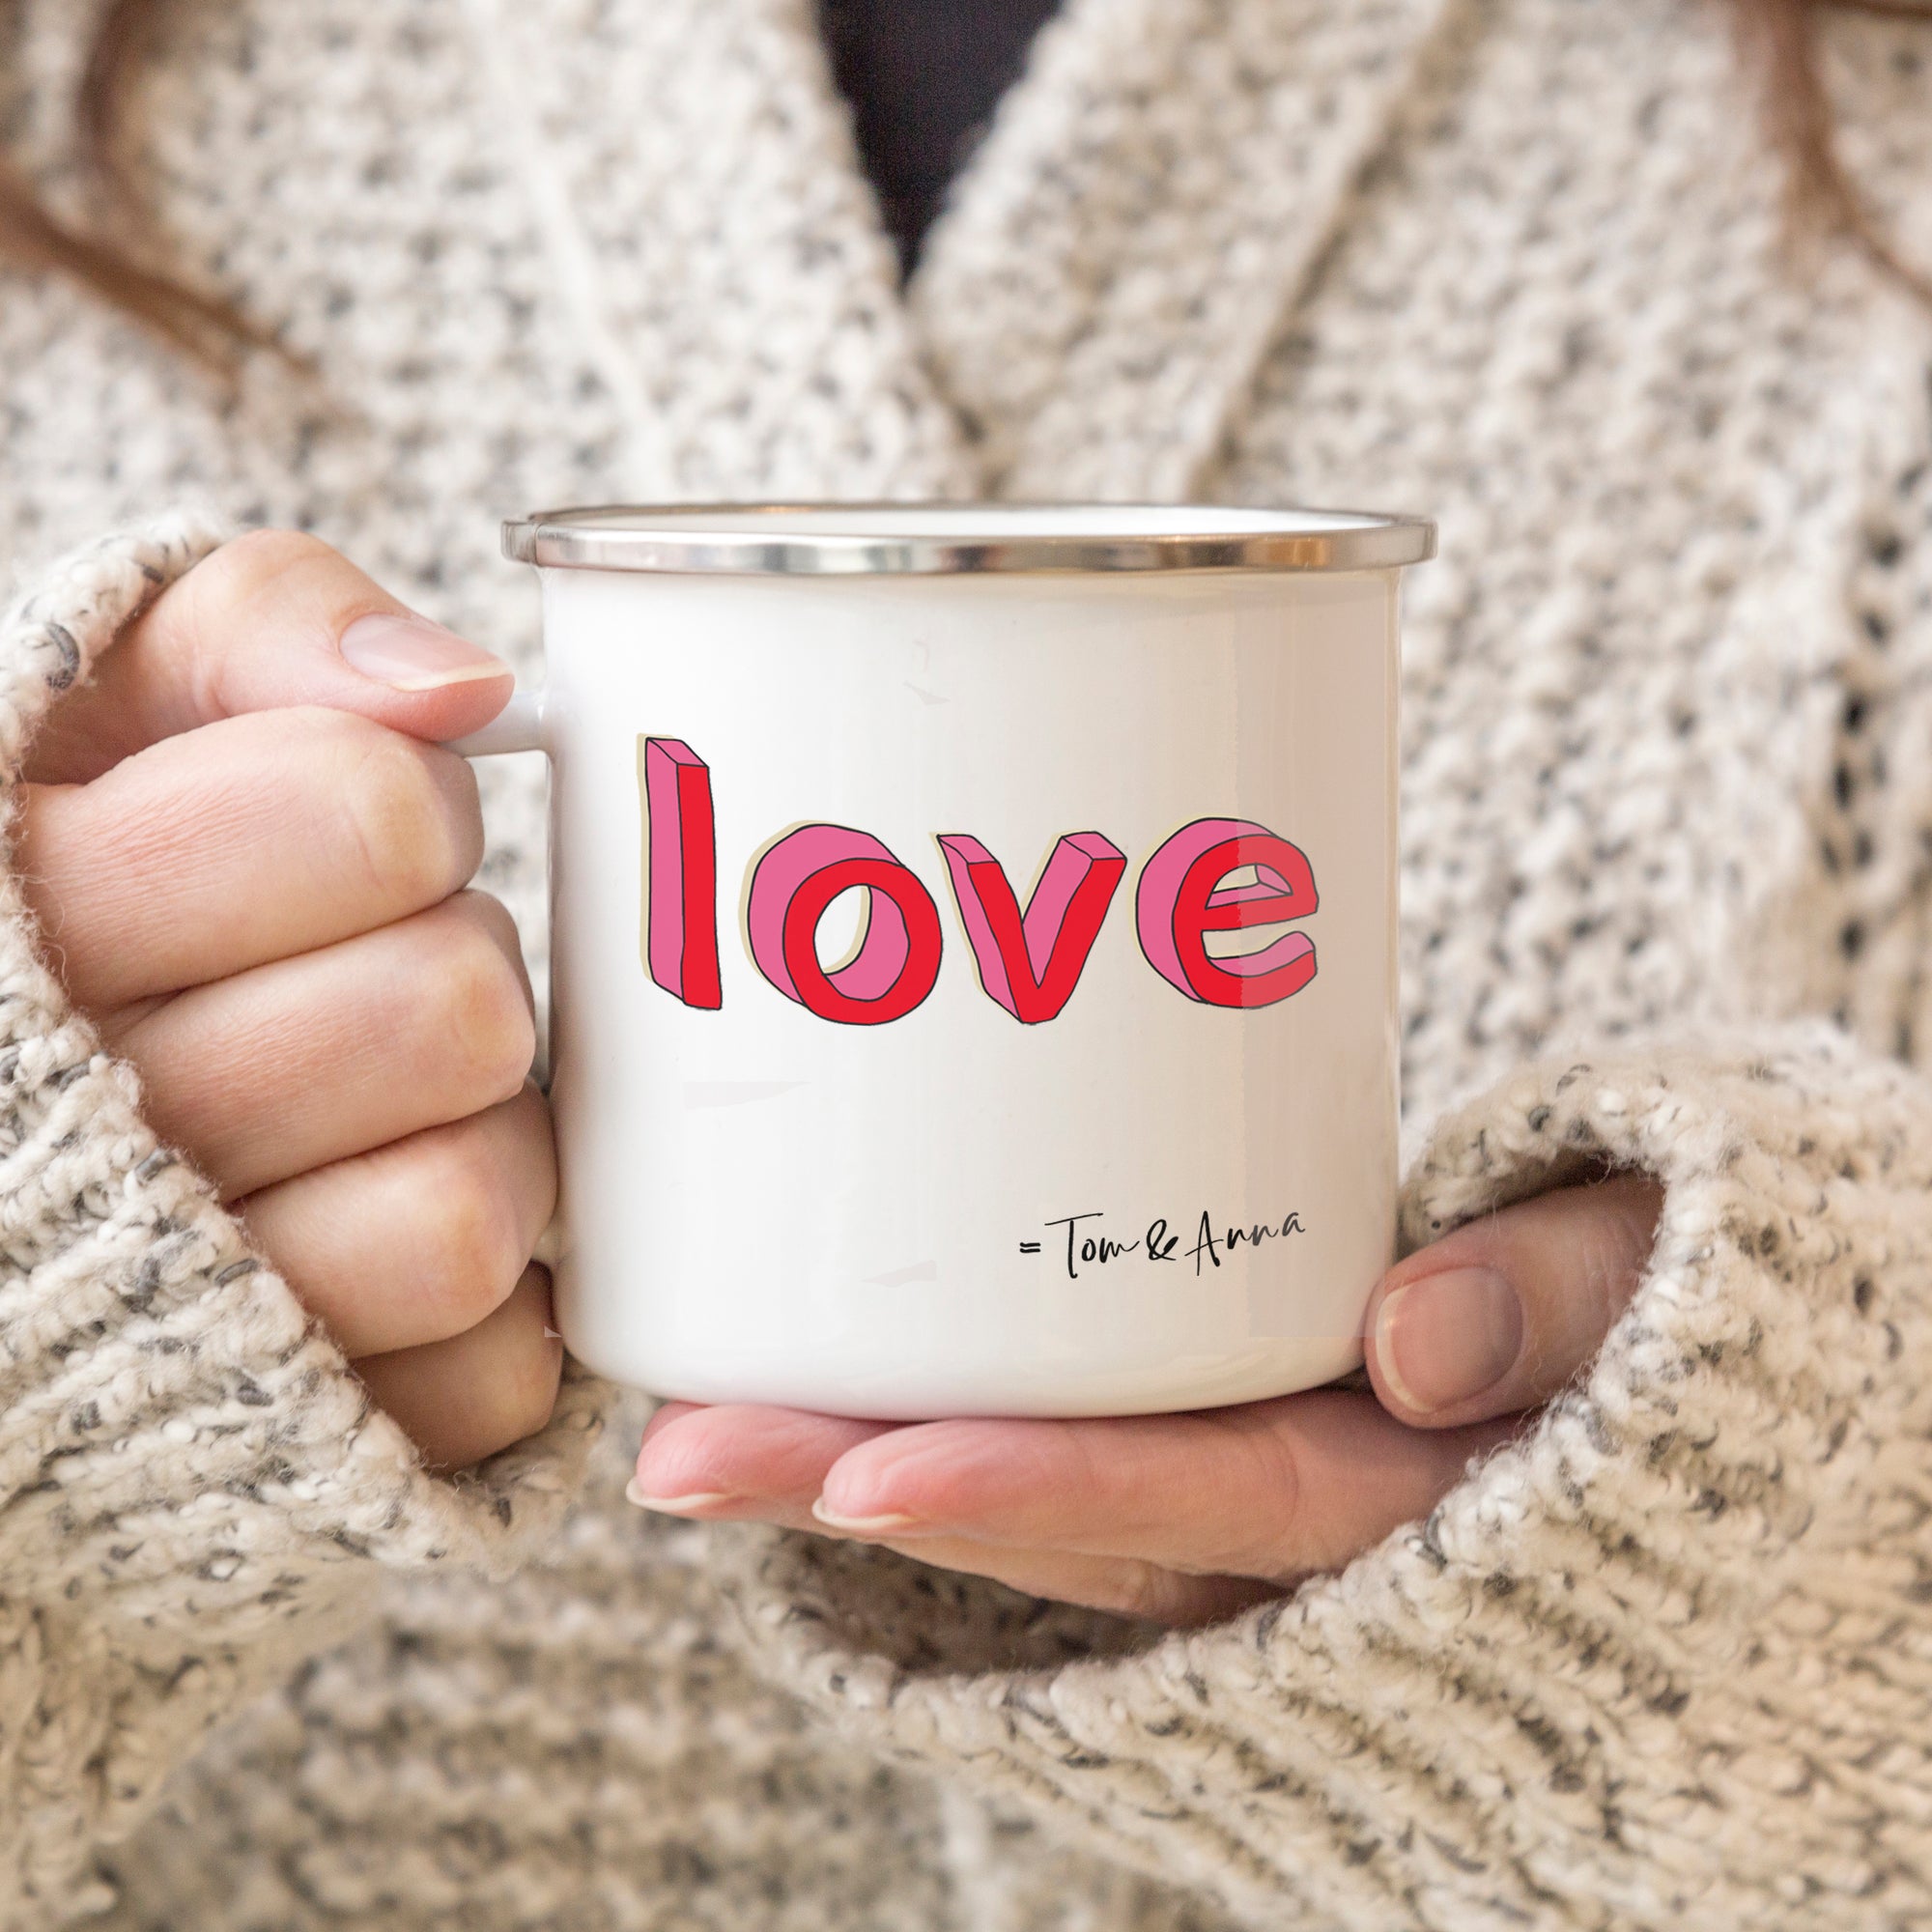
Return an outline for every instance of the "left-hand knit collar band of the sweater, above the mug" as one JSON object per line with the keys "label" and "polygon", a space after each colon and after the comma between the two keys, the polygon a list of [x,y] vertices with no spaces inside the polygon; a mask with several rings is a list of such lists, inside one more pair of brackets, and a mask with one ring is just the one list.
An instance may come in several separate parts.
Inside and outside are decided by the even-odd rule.
{"label": "left-hand knit collar band of the sweater, above the mug", "polygon": [[634,500],[968,495],[810,0],[464,0]]}

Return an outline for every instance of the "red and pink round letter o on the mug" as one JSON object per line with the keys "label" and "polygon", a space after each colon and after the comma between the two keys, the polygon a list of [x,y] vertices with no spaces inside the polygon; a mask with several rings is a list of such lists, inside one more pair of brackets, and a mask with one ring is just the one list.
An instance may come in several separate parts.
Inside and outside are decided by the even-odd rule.
{"label": "red and pink round letter o on the mug", "polygon": [[[837,972],[819,964],[819,920],[866,891],[866,937]],[[757,970],[790,1001],[840,1026],[902,1020],[939,980],[939,908],[918,873],[869,833],[804,825],[757,862],[746,902]]]}

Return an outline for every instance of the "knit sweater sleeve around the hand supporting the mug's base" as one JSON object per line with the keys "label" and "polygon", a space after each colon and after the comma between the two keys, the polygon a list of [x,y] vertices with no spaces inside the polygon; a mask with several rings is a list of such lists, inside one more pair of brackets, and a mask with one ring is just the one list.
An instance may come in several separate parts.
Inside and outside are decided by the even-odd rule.
{"label": "knit sweater sleeve around the hand supporting the mug's base", "polygon": [[1256,1926],[1928,1922],[1932,1095],[1824,1026],[1534,1066],[1405,1238],[1605,1163],[1665,1200],[1588,1378],[1345,1573],[1055,1662],[1094,1631],[740,1534],[753,1656]]}

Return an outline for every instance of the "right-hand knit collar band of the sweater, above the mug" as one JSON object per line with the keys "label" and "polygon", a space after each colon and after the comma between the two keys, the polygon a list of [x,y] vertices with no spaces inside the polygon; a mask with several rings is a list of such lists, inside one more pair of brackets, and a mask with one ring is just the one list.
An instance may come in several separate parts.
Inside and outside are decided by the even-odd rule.
{"label": "right-hand knit collar band of the sweater, above the mug", "polygon": [[1009,497],[1198,493],[1455,0],[1072,0],[912,288]]}

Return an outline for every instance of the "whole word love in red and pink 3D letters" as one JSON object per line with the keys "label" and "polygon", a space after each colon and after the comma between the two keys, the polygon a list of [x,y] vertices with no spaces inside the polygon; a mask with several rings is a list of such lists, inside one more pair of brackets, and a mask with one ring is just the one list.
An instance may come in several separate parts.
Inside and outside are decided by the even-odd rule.
{"label": "whole word love in red and pink 3D letters", "polygon": [[[682,738],[638,740],[645,813],[643,964],[686,1007],[724,1005],[717,941],[717,813],[711,767]],[[1099,939],[1126,854],[1103,833],[1065,833],[1022,912],[1001,862],[970,833],[939,833],[952,900],[980,985],[1022,1026],[1072,999]],[[819,922],[862,891],[858,943],[840,966],[819,960]],[[1208,1007],[1273,1007],[1316,976],[1302,931],[1254,952],[1211,954],[1209,933],[1306,920],[1320,906],[1300,846],[1248,819],[1194,819],[1140,869],[1134,929],[1148,964]],[[945,939],[918,873],[871,833],[802,825],[757,860],[746,927],[752,960],[786,999],[840,1026],[885,1026],[937,985]]]}

